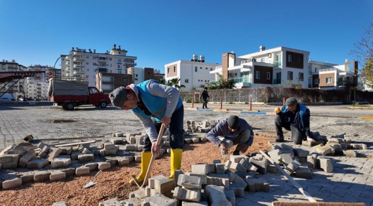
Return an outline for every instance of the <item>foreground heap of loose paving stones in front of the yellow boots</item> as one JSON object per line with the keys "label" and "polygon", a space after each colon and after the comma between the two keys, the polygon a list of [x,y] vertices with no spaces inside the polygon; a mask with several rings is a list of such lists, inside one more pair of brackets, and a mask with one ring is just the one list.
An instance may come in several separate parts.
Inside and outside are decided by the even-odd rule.
{"label": "foreground heap of loose paving stones in front of the yellow boots", "polygon": [[148,186],[133,191],[129,199],[104,201],[99,206],[234,206],[236,197],[248,192],[269,192],[266,180],[255,174],[266,173],[266,160],[256,155],[231,155],[225,163],[191,166],[190,173],[175,172],[175,179],[163,175],[150,178]]}

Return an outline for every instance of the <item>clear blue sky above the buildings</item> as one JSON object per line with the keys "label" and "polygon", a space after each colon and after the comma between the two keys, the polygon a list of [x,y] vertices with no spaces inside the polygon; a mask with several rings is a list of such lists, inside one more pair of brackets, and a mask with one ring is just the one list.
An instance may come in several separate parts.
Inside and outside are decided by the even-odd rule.
{"label": "clear blue sky above the buildings", "polygon": [[[52,65],[72,47],[121,45],[137,67],[284,46],[343,64],[369,23],[372,0],[0,0],[0,60]],[[57,62],[56,68],[60,68]]]}

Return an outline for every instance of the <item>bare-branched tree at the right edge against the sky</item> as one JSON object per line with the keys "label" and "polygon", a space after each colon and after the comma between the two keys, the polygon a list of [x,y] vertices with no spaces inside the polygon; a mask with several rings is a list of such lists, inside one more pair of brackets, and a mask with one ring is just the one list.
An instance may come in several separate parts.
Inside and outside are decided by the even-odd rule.
{"label": "bare-branched tree at the right edge against the sky", "polygon": [[373,87],[373,23],[370,23],[361,40],[354,44],[350,54],[362,65],[361,74],[365,84]]}

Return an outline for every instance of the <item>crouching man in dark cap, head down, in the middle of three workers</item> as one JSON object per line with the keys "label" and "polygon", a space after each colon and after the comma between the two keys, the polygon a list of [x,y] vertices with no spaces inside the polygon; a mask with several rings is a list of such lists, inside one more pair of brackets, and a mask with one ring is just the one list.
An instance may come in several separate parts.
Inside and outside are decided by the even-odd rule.
{"label": "crouching man in dark cap, head down, in the middle of three workers", "polygon": [[251,126],[236,115],[220,120],[216,126],[211,129],[206,138],[220,147],[222,156],[228,154],[233,145],[237,145],[233,155],[245,153],[253,144],[254,132]]}

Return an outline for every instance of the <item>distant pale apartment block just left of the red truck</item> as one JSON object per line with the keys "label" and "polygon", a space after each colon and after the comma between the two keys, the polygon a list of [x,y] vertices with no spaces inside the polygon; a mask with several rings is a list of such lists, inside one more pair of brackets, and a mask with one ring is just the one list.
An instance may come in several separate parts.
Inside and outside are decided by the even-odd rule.
{"label": "distant pale apartment block just left of the red truck", "polygon": [[[48,99],[48,74],[53,70],[52,66],[41,66],[34,65],[28,66],[27,71],[42,71],[40,75],[34,77],[26,77],[25,85],[25,96],[31,99],[46,100]],[[53,71],[54,72],[54,71]]]}

